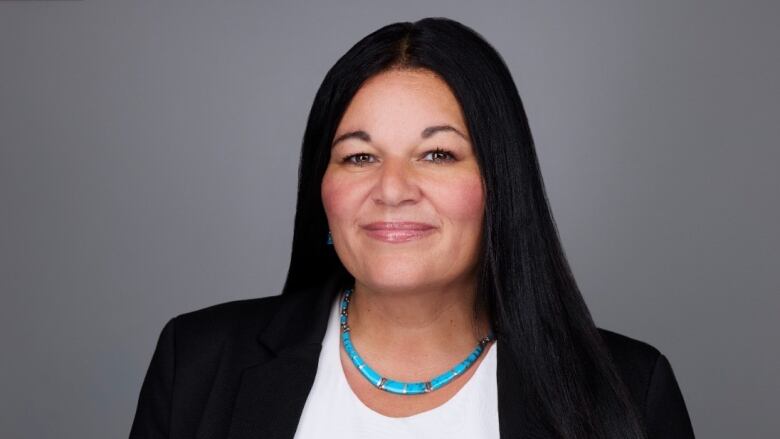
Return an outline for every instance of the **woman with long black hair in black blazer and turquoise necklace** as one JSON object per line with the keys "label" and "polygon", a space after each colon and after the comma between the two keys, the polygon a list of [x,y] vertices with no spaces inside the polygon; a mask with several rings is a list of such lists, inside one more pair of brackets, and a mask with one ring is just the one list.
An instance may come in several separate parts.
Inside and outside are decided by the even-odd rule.
{"label": "woman with long black hair in black blazer and turquoise necklace", "polygon": [[131,437],[691,438],[666,358],[596,328],[498,53],[396,23],[328,72],[279,296],[162,331]]}

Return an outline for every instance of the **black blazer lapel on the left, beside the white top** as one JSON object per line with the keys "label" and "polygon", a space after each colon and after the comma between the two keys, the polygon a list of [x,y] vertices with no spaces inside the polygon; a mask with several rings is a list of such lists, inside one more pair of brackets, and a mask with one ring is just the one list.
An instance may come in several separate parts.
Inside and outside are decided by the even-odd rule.
{"label": "black blazer lapel on the left, beside the white top", "polygon": [[243,370],[229,439],[289,439],[295,435],[317,374],[335,278],[324,288],[282,295],[274,319],[258,336],[272,355]]}

